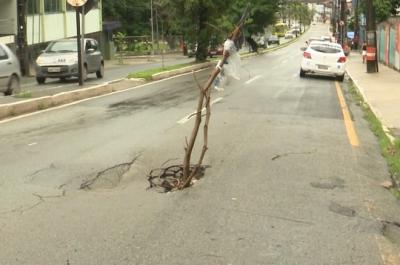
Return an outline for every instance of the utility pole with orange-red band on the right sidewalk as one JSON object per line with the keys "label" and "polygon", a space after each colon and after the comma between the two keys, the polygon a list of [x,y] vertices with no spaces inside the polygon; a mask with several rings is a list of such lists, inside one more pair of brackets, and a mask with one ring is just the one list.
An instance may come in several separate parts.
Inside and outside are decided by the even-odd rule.
{"label": "utility pole with orange-red band on the right sidewalk", "polygon": [[377,73],[376,22],[373,0],[367,0],[367,73]]}

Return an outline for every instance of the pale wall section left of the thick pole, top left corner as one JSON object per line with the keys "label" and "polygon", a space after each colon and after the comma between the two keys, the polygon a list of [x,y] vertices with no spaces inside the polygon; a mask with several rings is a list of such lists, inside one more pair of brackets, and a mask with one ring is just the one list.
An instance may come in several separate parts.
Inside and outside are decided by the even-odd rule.
{"label": "pale wall section left of the thick pole, top left corner", "polygon": [[17,34],[16,0],[0,0],[0,34]]}

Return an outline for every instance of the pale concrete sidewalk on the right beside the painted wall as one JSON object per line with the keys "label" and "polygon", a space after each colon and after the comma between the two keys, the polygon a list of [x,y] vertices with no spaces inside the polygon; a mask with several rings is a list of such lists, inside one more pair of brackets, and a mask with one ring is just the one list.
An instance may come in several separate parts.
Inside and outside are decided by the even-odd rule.
{"label": "pale concrete sidewalk on the right beside the painted wall", "polygon": [[400,136],[400,73],[379,64],[379,73],[368,74],[359,53],[348,57],[347,73],[365,101],[394,136]]}

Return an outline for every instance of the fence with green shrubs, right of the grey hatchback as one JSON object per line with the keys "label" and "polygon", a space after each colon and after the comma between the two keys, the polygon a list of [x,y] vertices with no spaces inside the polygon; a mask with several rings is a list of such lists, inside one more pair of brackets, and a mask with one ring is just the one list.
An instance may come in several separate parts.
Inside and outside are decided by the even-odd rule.
{"label": "fence with green shrubs, right of the grey hatchback", "polygon": [[183,52],[182,36],[166,36],[164,39],[154,39],[152,45],[151,36],[126,36],[122,40],[114,37],[116,53],[122,56],[150,55],[161,53]]}

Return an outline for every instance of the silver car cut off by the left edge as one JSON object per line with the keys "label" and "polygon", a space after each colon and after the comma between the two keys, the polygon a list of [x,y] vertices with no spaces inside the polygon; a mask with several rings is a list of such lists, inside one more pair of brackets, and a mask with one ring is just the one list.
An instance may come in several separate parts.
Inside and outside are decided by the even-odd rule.
{"label": "silver car cut off by the left edge", "polygon": [[21,71],[19,61],[7,45],[0,43],[0,92],[4,95],[18,93]]}

